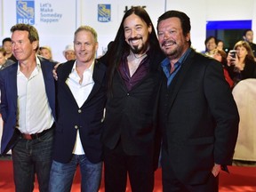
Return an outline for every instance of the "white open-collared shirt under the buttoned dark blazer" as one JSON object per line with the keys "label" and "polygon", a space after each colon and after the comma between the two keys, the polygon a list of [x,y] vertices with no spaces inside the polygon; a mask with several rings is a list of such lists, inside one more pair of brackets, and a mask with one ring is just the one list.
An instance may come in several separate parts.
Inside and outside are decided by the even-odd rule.
{"label": "white open-collared shirt under the buttoned dark blazer", "polygon": [[[89,94],[92,92],[92,87],[94,85],[94,81],[92,79],[93,68],[94,61],[90,68],[84,70],[83,81],[80,83],[81,79],[76,71],[75,62],[72,71],[69,74],[68,79],[66,80],[66,84],[68,84],[68,87],[76,100],[78,108],[81,108],[83,106],[85,100],[87,100]],[[73,154],[84,155],[84,148],[81,143],[79,130],[77,130],[76,143],[73,149]]]}

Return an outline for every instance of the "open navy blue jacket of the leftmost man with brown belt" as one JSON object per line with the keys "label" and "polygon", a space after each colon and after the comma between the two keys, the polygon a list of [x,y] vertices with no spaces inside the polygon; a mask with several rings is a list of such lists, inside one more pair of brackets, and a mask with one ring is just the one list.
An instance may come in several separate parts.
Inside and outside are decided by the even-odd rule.
{"label": "open navy blue jacket of the leftmost man with brown belt", "polygon": [[[53,63],[38,57],[41,62],[41,68],[44,76],[46,95],[52,109],[52,116],[55,119],[55,83],[52,76]],[[4,130],[1,142],[1,154],[8,152],[15,140],[14,130],[17,120],[17,70],[18,62],[4,68],[0,72],[0,90],[1,90],[1,114],[4,121]]]}

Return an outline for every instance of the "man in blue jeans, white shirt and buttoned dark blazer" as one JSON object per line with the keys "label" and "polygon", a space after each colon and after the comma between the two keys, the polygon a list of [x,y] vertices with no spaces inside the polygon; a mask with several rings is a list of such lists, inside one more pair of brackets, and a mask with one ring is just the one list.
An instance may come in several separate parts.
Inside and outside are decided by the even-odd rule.
{"label": "man in blue jeans, white shirt and buttoned dark blazer", "polygon": [[106,103],[106,66],[95,60],[97,33],[76,29],[76,60],[57,69],[57,126],[50,174],[50,192],[70,191],[80,165],[81,191],[98,192],[102,170],[100,133]]}

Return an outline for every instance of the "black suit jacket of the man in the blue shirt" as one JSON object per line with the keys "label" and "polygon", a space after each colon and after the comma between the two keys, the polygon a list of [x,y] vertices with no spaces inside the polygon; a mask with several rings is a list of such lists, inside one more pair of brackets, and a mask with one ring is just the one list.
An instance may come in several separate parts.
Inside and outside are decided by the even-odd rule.
{"label": "black suit jacket of the man in the blue shirt", "polygon": [[168,164],[183,182],[203,183],[214,163],[232,163],[239,116],[218,61],[192,50],[169,88],[164,76],[159,115]]}

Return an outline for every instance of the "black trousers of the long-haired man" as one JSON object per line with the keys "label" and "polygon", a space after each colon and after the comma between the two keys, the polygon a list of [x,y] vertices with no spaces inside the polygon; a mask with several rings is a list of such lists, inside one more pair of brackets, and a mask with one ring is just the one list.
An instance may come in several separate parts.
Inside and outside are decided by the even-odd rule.
{"label": "black trousers of the long-haired man", "polygon": [[132,192],[152,192],[154,188],[152,154],[145,156],[129,156],[125,154],[121,142],[119,142],[114,149],[105,147],[105,191],[125,192],[128,173]]}

